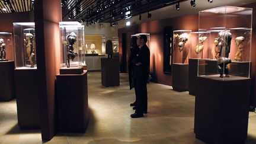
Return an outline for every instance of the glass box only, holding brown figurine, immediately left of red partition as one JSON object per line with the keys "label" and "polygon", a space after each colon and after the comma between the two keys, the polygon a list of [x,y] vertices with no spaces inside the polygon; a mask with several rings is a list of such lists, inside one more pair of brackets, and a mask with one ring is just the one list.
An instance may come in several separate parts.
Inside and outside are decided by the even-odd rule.
{"label": "glass box only, holding brown figurine, immediately left of red partition", "polygon": [[37,69],[34,23],[13,23],[16,69]]}

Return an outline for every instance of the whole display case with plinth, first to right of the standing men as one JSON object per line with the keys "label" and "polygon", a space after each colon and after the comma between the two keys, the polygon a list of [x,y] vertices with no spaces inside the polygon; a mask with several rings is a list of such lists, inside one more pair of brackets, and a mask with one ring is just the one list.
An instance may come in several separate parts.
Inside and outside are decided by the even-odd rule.
{"label": "whole display case with plinth, first to right of the standing men", "polygon": [[173,31],[172,88],[175,91],[188,90],[188,58],[190,56],[191,30]]}

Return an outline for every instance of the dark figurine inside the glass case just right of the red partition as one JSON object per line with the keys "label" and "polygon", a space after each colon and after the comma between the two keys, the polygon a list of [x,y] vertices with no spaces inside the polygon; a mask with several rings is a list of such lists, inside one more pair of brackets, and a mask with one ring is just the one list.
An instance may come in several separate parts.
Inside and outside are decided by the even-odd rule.
{"label": "dark figurine inside the glass case just right of the red partition", "polygon": [[70,59],[73,61],[75,59],[75,52],[74,52],[74,49],[73,49],[73,44],[75,44],[76,42],[76,34],[74,32],[72,32],[71,34],[69,34],[67,36],[67,41],[69,44],[67,44],[66,46],[66,52],[68,53],[67,54],[67,67],[69,68],[70,67]]}

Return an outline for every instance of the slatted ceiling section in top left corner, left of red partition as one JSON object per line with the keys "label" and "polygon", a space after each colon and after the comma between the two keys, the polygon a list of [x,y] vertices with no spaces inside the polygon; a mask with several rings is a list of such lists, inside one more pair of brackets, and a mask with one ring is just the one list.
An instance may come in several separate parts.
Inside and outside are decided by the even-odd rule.
{"label": "slatted ceiling section in top left corner, left of red partition", "polygon": [[0,0],[0,13],[33,11],[34,0]]}

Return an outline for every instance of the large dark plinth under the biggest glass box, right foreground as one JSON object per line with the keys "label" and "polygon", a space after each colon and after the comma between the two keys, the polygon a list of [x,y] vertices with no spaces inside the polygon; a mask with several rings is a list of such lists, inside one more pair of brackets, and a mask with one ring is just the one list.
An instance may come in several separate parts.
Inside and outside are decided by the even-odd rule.
{"label": "large dark plinth under the biggest glass box, right foreground", "polygon": [[249,78],[219,75],[197,79],[194,133],[206,143],[244,143],[247,139]]}

